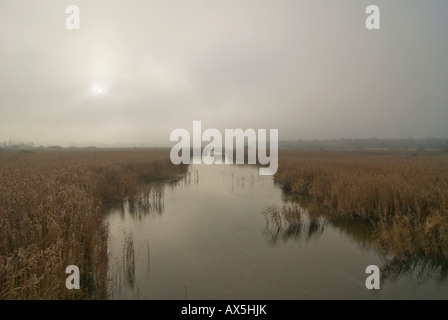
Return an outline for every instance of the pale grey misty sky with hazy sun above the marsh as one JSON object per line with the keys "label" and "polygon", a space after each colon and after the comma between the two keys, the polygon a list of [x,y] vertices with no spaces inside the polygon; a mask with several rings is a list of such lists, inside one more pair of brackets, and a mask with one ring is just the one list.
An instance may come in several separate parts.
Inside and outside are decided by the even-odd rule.
{"label": "pale grey misty sky with hazy sun above the marsh", "polygon": [[0,0],[0,141],[448,138],[447,35],[446,0]]}

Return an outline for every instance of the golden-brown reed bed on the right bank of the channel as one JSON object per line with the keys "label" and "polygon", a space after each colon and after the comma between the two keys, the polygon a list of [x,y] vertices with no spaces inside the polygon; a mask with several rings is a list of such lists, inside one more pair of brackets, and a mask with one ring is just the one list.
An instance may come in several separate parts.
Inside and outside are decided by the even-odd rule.
{"label": "golden-brown reed bed on the right bank of the channel", "polygon": [[283,151],[275,181],[311,213],[362,219],[391,260],[447,269],[448,154]]}

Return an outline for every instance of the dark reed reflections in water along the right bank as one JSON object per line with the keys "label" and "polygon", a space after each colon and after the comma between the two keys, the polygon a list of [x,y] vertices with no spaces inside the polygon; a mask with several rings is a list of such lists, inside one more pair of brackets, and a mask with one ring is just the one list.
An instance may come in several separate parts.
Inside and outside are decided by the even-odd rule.
{"label": "dark reed reflections in water along the right bank", "polygon": [[282,207],[267,205],[263,211],[266,227],[263,231],[272,243],[288,240],[309,241],[318,239],[325,230],[339,231],[355,243],[362,251],[376,251],[382,260],[381,281],[393,281],[402,275],[410,275],[417,279],[448,278],[448,259],[429,256],[415,252],[413,255],[397,253],[394,245],[384,243],[377,232],[374,222],[356,219],[331,218],[324,214],[322,208],[308,204],[304,209],[296,200],[283,194]]}

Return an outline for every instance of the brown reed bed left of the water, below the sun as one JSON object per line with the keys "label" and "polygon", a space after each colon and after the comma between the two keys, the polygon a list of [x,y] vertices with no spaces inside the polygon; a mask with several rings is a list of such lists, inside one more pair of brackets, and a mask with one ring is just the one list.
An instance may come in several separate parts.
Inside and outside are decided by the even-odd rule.
{"label": "brown reed bed left of the water, below the sun", "polygon": [[[0,153],[0,299],[107,295],[106,209],[141,182],[175,178],[165,150]],[[65,268],[81,271],[67,290]]]}

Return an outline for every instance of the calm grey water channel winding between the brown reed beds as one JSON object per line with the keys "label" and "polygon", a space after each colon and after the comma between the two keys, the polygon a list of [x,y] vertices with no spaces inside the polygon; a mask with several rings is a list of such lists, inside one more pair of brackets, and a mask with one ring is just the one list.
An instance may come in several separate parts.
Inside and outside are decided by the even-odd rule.
{"label": "calm grey water channel winding between the brown reed beds", "polygon": [[448,298],[437,272],[403,269],[367,290],[366,267],[384,264],[371,228],[269,218],[291,204],[254,166],[193,165],[142,199],[107,218],[115,299]]}

